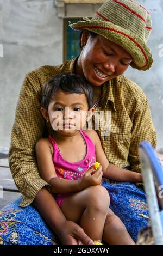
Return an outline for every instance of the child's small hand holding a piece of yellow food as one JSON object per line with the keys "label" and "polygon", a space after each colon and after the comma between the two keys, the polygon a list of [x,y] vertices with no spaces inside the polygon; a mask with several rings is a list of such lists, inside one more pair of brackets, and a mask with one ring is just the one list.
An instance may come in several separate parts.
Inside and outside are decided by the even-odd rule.
{"label": "child's small hand holding a piece of yellow food", "polygon": [[102,176],[102,166],[99,166],[97,170],[95,170],[94,167],[91,167],[83,174],[82,179],[79,181],[79,185],[82,190],[86,187],[101,185]]}

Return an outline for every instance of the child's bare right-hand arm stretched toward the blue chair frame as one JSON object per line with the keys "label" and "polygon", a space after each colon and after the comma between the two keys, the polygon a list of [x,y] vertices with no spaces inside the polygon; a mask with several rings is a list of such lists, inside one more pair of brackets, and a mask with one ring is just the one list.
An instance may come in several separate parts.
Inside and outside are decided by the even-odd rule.
{"label": "child's bare right-hand arm stretched toward the blue chair frame", "polygon": [[131,172],[130,170],[125,170],[109,163],[96,131],[92,132],[96,148],[96,161],[101,163],[103,168],[103,176],[105,178],[121,182],[142,182],[142,174]]}

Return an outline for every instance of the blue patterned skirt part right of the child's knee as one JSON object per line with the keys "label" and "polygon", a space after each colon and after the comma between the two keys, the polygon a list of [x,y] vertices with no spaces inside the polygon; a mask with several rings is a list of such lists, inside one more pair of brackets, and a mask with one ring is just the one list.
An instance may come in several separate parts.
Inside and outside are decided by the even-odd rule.
{"label": "blue patterned skirt part right of the child's knee", "polygon": [[130,182],[120,183],[103,179],[102,186],[109,192],[110,209],[121,218],[136,242],[139,231],[148,224],[148,220],[140,216],[149,216],[145,192]]}

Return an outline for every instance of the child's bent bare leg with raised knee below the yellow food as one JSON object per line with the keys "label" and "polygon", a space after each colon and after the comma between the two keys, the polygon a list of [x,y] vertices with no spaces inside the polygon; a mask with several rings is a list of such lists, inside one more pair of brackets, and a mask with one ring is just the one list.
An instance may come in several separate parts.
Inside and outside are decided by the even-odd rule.
{"label": "child's bent bare leg with raised knee below the yellow food", "polygon": [[64,199],[61,210],[79,224],[92,240],[102,240],[110,197],[102,186],[91,186]]}

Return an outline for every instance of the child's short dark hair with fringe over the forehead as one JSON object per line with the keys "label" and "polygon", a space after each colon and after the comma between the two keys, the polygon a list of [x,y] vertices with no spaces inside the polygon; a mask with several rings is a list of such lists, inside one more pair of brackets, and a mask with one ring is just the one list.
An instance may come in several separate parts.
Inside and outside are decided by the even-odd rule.
{"label": "child's short dark hair with fringe over the forehead", "polygon": [[42,107],[48,105],[56,92],[85,94],[88,108],[93,105],[93,88],[85,77],[76,74],[60,74],[47,81],[42,89]]}

